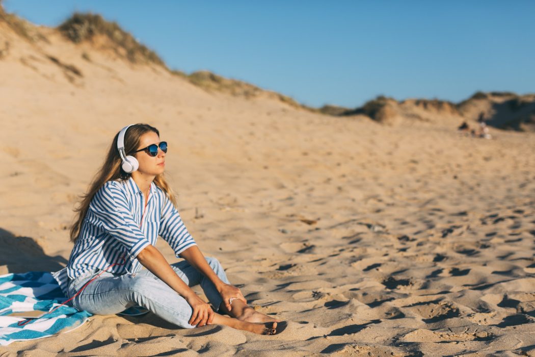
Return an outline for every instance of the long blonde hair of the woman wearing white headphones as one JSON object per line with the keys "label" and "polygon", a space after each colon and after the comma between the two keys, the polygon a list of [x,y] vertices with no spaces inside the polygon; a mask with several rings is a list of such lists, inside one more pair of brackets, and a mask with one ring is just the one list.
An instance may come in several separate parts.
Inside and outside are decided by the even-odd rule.
{"label": "long blonde hair of the woman wearing white headphones", "polygon": [[[141,135],[150,131],[155,132],[156,134],[158,134],[158,136],[160,135],[160,132],[157,128],[148,124],[135,124],[129,127],[124,140],[126,154],[135,156],[136,154],[132,153],[137,149],[137,146],[139,146]],[[98,170],[97,174],[95,175],[95,178],[93,179],[93,182],[89,185],[89,191],[80,196],[78,207],[74,209],[74,211],[77,212],[77,215],[75,216],[77,219],[71,226],[70,236],[71,241],[73,242],[76,241],[80,236],[83,220],[86,218],[87,210],[89,209],[89,204],[91,203],[91,200],[93,200],[93,197],[98,192],[98,190],[101,189],[101,187],[104,186],[104,184],[108,181],[118,179],[126,180],[131,176],[131,174],[124,172],[121,168],[121,157],[119,155],[119,150],[117,149],[118,136],[119,133],[117,133],[113,138],[110,149],[108,150],[108,155],[106,155],[104,164],[102,165],[100,170]],[[164,174],[161,173],[156,175],[153,182],[156,184],[156,186],[163,189],[163,191],[167,194],[167,196],[173,203],[173,206],[176,208],[177,199],[175,198],[171,187],[165,180]]]}

